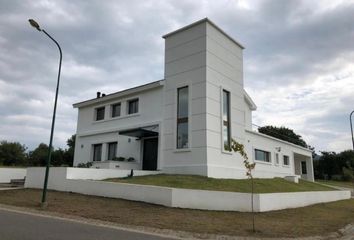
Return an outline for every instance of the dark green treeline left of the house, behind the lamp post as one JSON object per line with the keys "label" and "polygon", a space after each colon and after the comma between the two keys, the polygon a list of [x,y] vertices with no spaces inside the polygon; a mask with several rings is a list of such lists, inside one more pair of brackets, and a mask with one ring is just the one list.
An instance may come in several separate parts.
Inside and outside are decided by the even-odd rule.
{"label": "dark green treeline left of the house, behind the lamp post", "polygon": [[[72,166],[74,160],[75,135],[67,140],[66,149],[53,149],[51,166]],[[48,145],[41,143],[33,151],[19,142],[0,142],[0,165],[2,166],[45,166],[48,159]]]}

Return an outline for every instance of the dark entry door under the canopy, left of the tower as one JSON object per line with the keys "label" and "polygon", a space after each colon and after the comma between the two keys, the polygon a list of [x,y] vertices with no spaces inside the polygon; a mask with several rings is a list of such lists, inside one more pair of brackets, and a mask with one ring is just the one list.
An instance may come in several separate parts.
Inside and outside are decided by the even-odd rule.
{"label": "dark entry door under the canopy, left of the tower", "polygon": [[157,169],[158,138],[144,139],[143,170]]}

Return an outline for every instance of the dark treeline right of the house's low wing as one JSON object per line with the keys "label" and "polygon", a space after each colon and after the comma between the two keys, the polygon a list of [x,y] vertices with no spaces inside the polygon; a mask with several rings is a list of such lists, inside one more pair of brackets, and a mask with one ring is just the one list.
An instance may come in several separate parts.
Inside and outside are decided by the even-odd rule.
{"label": "dark treeline right of the house's low wing", "polygon": [[340,153],[321,152],[315,157],[314,174],[316,179],[353,181],[354,151],[346,150]]}

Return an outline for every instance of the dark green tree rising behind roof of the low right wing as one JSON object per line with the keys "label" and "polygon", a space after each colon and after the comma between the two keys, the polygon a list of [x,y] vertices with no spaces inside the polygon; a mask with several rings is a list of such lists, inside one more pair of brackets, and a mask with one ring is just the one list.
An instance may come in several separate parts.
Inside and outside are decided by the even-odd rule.
{"label": "dark green tree rising behind roof of the low right wing", "polygon": [[286,127],[275,127],[275,126],[264,126],[259,127],[258,132],[294,143],[296,145],[307,148],[307,143],[302,139],[302,137],[296,134],[292,129]]}

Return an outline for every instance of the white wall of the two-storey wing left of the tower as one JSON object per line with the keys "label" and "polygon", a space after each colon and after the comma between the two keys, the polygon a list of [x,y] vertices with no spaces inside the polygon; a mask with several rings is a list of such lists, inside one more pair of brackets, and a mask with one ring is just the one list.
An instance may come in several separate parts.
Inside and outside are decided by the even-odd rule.
{"label": "white wall of the two-storey wing left of the tower", "polygon": [[[139,113],[126,115],[126,103],[134,98],[139,98]],[[122,105],[121,117],[110,118],[110,106],[118,102]],[[94,121],[95,108],[101,106],[105,106],[105,120]],[[141,141],[137,141],[134,137],[118,135],[118,132],[159,125],[161,119],[162,87],[79,108],[74,166],[93,160],[93,144],[103,143],[102,161],[107,160],[109,142],[118,142],[118,157],[133,157],[141,166]]]}

